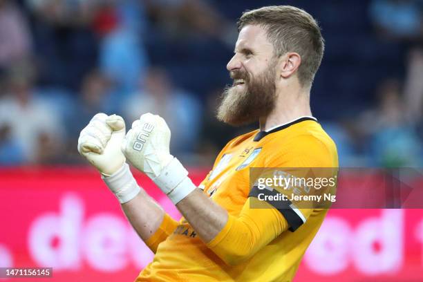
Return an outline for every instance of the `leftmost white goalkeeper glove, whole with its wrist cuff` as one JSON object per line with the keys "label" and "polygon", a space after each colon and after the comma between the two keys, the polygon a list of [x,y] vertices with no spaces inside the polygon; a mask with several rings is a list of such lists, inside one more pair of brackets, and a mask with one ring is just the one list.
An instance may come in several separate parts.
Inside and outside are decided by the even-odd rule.
{"label": "leftmost white goalkeeper glove, whole with its wrist cuff", "polygon": [[122,117],[97,113],[78,139],[79,153],[102,173],[104,182],[120,203],[128,202],[140,192],[120,150],[124,137]]}

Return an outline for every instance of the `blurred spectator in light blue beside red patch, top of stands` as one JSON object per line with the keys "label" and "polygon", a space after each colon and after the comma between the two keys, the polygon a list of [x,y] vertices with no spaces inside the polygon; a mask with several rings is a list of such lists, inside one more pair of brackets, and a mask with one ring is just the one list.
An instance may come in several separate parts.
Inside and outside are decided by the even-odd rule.
{"label": "blurred spectator in light blue beside red patch, top of stands", "polygon": [[134,20],[145,17],[142,11],[142,1],[105,2],[98,8],[93,22],[102,37],[100,69],[113,80],[118,91],[115,95],[120,97],[136,90],[147,68],[147,54],[140,37],[143,21]]}

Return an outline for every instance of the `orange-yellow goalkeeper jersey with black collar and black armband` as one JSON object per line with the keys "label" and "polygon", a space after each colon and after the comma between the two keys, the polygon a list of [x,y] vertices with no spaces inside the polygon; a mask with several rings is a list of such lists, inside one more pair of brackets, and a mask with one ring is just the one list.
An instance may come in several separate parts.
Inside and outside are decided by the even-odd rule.
{"label": "orange-yellow goalkeeper jersey with black collar and black armband", "polygon": [[234,138],[199,186],[227,210],[225,227],[204,243],[185,218],[164,216],[146,242],[156,255],[137,281],[292,281],[327,209],[250,206],[251,167],[338,167],[337,150],[312,117]]}

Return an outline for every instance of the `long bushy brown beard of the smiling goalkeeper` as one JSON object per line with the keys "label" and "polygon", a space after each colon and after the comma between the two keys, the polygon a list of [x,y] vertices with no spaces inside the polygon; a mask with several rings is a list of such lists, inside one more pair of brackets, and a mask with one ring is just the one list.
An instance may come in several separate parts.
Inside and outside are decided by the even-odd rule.
{"label": "long bushy brown beard of the smiling goalkeeper", "polygon": [[250,78],[247,72],[232,71],[232,79],[244,79],[244,84],[225,87],[218,106],[218,120],[240,126],[269,115],[276,103],[275,66],[271,64],[256,78]]}

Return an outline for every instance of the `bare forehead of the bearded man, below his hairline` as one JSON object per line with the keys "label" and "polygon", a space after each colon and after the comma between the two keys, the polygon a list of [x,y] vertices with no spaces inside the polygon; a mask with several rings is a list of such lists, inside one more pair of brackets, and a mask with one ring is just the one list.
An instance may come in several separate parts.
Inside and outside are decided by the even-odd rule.
{"label": "bare forehead of the bearded man, below his hairline", "polygon": [[247,25],[239,32],[235,50],[243,48],[254,49],[256,51],[273,51],[273,46],[267,39],[267,33],[263,26]]}

